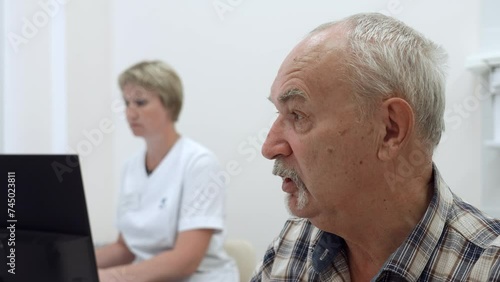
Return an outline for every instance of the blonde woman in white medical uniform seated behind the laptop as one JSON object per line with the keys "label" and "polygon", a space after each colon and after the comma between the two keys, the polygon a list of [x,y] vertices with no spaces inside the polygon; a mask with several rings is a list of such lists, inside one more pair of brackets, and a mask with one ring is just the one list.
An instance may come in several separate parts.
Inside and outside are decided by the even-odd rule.
{"label": "blonde woman in white medical uniform seated behind the laptop", "polygon": [[161,61],[140,62],[120,75],[119,85],[127,121],[146,148],[124,167],[118,239],[96,250],[100,281],[238,281],[223,249],[218,161],[175,129],[179,76]]}

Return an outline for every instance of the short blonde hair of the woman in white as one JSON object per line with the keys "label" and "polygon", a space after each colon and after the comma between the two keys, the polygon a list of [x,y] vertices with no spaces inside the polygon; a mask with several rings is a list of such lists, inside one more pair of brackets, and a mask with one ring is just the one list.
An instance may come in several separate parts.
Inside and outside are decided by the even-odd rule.
{"label": "short blonde hair of the woman in white", "polygon": [[139,62],[123,71],[118,77],[122,91],[129,83],[158,94],[163,106],[170,112],[172,120],[177,121],[182,109],[182,82],[170,65],[159,60]]}

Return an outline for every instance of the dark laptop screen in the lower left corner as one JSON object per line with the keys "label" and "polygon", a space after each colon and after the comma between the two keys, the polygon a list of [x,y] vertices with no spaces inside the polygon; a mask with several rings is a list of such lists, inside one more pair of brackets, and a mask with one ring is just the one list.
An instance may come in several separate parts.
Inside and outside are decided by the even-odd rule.
{"label": "dark laptop screen in the lower left corner", "polygon": [[97,282],[78,157],[0,155],[0,183],[0,282]]}

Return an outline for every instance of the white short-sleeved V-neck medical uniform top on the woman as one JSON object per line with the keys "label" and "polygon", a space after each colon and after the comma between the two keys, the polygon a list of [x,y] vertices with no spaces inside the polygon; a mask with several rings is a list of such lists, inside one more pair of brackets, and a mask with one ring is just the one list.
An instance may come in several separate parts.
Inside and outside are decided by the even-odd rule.
{"label": "white short-sleeved V-neck medical uniform top on the woman", "polygon": [[225,253],[226,187],[213,153],[181,137],[148,176],[145,150],[125,165],[117,227],[136,261],[172,249],[179,232],[214,229],[197,271],[184,281],[236,282],[238,270]]}

